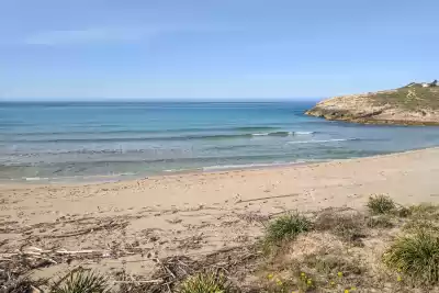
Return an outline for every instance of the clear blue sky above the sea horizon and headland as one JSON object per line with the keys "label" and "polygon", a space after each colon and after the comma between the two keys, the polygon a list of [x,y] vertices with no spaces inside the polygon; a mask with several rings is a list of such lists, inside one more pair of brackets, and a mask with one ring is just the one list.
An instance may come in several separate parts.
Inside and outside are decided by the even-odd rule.
{"label": "clear blue sky above the sea horizon and headland", "polygon": [[0,0],[0,99],[326,98],[439,78],[437,0]]}

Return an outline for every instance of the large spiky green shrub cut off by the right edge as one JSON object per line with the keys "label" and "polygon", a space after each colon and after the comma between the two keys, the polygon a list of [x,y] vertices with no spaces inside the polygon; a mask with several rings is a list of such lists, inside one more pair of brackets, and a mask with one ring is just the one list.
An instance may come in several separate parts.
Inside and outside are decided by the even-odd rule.
{"label": "large spiky green shrub cut off by the right edge", "polygon": [[402,237],[386,251],[384,262],[416,283],[438,283],[439,237],[425,230]]}

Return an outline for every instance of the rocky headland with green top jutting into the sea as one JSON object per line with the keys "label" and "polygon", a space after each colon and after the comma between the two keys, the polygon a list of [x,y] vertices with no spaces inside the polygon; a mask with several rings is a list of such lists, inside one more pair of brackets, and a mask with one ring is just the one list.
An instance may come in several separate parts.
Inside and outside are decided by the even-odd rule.
{"label": "rocky headland with green top jutting into the sea", "polygon": [[439,87],[409,83],[406,87],[336,97],[324,100],[305,114],[368,124],[439,125]]}

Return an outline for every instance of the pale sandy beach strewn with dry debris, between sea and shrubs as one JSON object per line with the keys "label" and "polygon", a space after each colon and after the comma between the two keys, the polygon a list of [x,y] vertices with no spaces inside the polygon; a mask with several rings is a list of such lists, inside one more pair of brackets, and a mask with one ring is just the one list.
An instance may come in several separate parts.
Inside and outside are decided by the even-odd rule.
{"label": "pale sandy beach strewn with dry debris, between sea and shrubs", "polygon": [[[261,221],[285,211],[363,209],[371,194],[401,204],[439,202],[439,148],[212,173],[87,185],[0,187],[0,252],[36,247],[85,251],[35,271],[70,266],[147,275],[153,257],[203,255],[241,246]],[[78,257],[80,256],[80,257]]]}

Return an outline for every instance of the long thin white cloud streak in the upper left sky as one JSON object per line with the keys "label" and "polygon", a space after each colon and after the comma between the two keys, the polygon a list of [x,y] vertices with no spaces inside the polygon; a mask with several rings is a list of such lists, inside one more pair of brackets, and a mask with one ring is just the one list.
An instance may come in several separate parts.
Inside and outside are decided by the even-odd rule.
{"label": "long thin white cloud streak in the upper left sky", "polygon": [[87,29],[41,32],[25,38],[29,45],[69,45],[89,43],[133,42],[154,35],[137,29]]}

